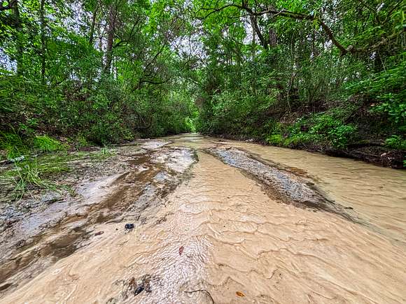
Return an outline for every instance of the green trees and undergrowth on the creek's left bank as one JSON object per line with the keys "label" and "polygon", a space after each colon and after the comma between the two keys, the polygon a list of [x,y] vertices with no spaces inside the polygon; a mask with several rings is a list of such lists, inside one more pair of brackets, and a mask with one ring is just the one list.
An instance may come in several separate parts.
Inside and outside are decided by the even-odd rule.
{"label": "green trees and undergrowth on the creek's left bank", "polygon": [[172,51],[181,24],[163,2],[0,5],[3,156],[194,130],[197,108]]}

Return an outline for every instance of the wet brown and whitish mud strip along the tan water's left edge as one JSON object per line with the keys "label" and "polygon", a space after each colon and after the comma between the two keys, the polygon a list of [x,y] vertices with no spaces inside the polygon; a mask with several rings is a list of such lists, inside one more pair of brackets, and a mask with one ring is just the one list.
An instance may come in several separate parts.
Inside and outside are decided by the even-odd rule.
{"label": "wet brown and whitish mud strip along the tan water's left edge", "polygon": [[65,197],[63,201],[45,196],[42,203],[48,206],[45,210],[35,208],[31,211],[36,212],[22,213],[20,220],[1,234],[0,280],[4,284],[0,294],[25,284],[59,259],[97,242],[103,236],[94,231],[102,231],[105,224],[146,224],[151,215],[144,215],[144,211],[159,208],[197,160],[189,148],[164,147],[146,154],[128,153],[130,146],[125,149],[131,155],[120,159],[121,164],[125,162],[125,173],[81,180],[76,185],[76,196]]}

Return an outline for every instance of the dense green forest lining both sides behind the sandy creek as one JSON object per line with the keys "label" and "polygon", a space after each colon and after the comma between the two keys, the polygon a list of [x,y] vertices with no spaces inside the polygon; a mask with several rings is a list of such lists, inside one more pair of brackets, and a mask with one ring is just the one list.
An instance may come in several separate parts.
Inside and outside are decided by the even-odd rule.
{"label": "dense green forest lining both sides behind the sandy creek", "polygon": [[405,164],[398,0],[0,1],[0,149],[202,133]]}

